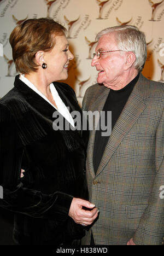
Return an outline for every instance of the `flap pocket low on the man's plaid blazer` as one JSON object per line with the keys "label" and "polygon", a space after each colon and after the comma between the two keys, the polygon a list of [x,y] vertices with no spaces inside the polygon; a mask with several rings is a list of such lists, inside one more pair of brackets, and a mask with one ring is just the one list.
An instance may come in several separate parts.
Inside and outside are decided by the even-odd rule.
{"label": "flap pocket low on the man's plaid blazer", "polygon": [[136,203],[135,205],[126,205],[126,216],[128,219],[140,218],[147,208],[148,203]]}

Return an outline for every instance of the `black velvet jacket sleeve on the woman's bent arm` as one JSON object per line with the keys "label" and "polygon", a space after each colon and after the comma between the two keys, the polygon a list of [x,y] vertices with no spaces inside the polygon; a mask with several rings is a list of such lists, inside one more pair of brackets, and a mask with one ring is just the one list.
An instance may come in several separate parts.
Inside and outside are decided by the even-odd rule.
{"label": "black velvet jacket sleeve on the woman's bent arm", "polygon": [[31,217],[65,222],[73,197],[60,192],[45,195],[25,188],[20,178],[23,153],[14,118],[7,106],[0,103],[0,206]]}

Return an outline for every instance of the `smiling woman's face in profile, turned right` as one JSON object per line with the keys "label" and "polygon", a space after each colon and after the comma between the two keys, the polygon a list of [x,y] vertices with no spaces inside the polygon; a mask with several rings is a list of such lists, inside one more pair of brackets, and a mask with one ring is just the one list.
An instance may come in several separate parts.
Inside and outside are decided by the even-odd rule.
{"label": "smiling woman's face in profile, turned right", "polygon": [[52,83],[57,80],[67,79],[69,61],[73,58],[73,54],[69,51],[69,43],[66,36],[56,36],[54,48],[44,52],[48,82]]}

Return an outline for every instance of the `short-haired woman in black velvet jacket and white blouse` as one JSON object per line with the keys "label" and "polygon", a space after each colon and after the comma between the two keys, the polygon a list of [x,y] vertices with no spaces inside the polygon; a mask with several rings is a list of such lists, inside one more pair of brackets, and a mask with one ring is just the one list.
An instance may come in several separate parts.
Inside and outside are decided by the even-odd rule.
{"label": "short-haired woman in black velvet jacket and white blouse", "polygon": [[67,79],[73,59],[65,28],[51,19],[26,20],[10,44],[20,75],[0,101],[0,205],[16,213],[17,244],[71,245],[98,211],[84,200],[86,136],[52,128],[53,113],[74,127],[70,112],[81,111],[74,91],[56,83]]}

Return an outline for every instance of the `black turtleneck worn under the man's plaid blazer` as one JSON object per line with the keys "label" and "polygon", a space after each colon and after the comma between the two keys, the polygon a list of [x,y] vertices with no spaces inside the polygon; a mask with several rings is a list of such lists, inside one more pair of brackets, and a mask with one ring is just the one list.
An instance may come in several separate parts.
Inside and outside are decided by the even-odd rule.
{"label": "black turtleneck worn under the man's plaid blazer", "polygon": [[[130,83],[128,83],[124,88],[121,90],[112,90],[110,89],[110,92],[108,94],[106,103],[104,104],[103,111],[107,113],[107,111],[112,111],[112,129],[118,120],[122,109],[124,108],[128,97],[130,96],[134,85],[137,83],[139,78],[139,74],[137,77],[135,77]],[[107,118],[107,115],[106,115]],[[101,122],[101,118],[99,119],[99,122]],[[106,120],[107,125],[107,120]],[[99,163],[101,162],[103,152],[106,148],[106,144],[109,140],[109,136],[102,136],[101,125],[99,125],[100,129],[96,131],[95,136],[95,144],[94,144],[94,150],[93,150],[93,166],[95,173],[97,172]]]}

